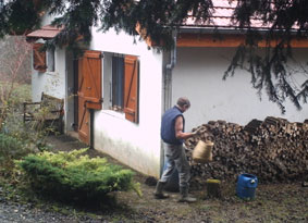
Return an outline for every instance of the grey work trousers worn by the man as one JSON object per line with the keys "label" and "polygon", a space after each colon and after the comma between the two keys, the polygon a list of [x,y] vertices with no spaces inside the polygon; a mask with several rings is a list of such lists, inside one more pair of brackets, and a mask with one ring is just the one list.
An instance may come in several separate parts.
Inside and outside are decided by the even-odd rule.
{"label": "grey work trousers worn by the man", "polygon": [[168,182],[176,168],[180,187],[188,187],[190,166],[185,154],[185,145],[164,144],[164,157],[167,159],[167,168],[162,173],[160,182]]}

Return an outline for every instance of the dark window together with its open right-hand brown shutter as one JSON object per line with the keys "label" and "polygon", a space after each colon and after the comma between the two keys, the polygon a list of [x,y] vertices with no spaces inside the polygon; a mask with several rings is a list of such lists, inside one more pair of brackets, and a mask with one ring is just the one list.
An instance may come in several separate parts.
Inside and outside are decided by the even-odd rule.
{"label": "dark window together with its open right-hand brown shutter", "polygon": [[112,57],[112,108],[125,113],[125,119],[138,122],[138,58]]}

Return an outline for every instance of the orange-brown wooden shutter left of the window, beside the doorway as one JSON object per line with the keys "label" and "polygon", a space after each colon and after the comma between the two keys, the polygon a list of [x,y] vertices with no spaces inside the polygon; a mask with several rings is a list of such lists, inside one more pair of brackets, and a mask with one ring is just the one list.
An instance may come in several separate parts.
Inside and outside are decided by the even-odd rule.
{"label": "orange-brown wooden shutter left of the window, beside the doorway", "polygon": [[101,109],[101,52],[86,51],[79,63],[78,92],[83,95],[86,108]]}

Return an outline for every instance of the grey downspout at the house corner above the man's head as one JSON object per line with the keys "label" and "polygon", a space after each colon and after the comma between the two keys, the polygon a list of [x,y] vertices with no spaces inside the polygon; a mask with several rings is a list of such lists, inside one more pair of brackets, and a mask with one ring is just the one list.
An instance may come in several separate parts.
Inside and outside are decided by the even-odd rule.
{"label": "grey downspout at the house corner above the man's head", "polygon": [[176,64],[176,30],[172,32],[174,46],[170,51],[170,63],[165,64],[164,75],[164,111],[172,107],[172,70]]}

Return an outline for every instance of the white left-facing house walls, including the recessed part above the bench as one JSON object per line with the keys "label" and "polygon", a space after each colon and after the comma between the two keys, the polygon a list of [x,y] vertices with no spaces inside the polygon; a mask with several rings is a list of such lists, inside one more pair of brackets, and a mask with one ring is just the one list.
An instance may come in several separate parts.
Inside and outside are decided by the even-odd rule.
{"label": "white left-facing house walls, including the recessed part above the bench", "polygon": [[[42,25],[52,17],[45,16]],[[93,29],[93,40],[87,50],[101,51],[103,109],[94,112],[94,147],[109,153],[135,170],[159,176],[161,166],[161,99],[162,54],[148,50],[145,42],[134,44],[133,37],[114,30],[102,34]],[[125,120],[124,114],[110,110],[111,57],[113,53],[137,55],[139,60],[139,122]],[[65,58],[66,55],[66,58]],[[33,100],[39,101],[41,92],[64,98],[65,131],[72,131],[73,123],[73,57],[65,49],[56,49],[56,71],[38,73],[33,70]],[[66,63],[66,64],[65,64]],[[106,87],[107,86],[107,87]]]}

